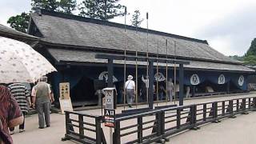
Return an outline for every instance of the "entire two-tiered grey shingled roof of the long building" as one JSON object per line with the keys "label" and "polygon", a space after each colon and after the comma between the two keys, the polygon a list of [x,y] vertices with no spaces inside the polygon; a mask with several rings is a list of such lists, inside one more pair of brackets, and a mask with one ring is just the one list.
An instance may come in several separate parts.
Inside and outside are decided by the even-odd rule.
{"label": "entire two-tiered grey shingled roof of the long building", "polygon": [[[120,54],[126,47],[130,52],[147,51],[146,29],[134,26],[105,22],[92,18],[82,18],[74,15],[61,14],[42,10],[42,14],[31,14],[34,25],[42,34],[42,42],[48,45],[68,47],[64,49],[50,49],[49,52],[58,61],[64,62],[100,62],[95,59],[95,51]],[[252,72],[239,61],[233,60],[211,48],[206,41],[187,38],[175,34],[148,30],[148,51],[150,54],[166,55],[166,39],[168,42],[168,55],[174,58],[174,42],[178,59],[189,60],[188,68],[207,70],[234,70]],[[158,45],[159,43],[159,45]],[[158,48],[159,47],[159,48]],[[88,52],[93,50],[94,52]],[[122,62],[116,62],[122,63]]]}

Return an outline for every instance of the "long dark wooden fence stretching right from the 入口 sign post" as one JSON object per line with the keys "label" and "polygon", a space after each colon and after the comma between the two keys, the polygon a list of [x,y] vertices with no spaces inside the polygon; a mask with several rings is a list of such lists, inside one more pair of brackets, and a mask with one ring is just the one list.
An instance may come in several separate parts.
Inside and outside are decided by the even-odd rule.
{"label": "long dark wooden fence stretching right from the \u5165\u53e3 sign post", "polygon": [[152,143],[183,130],[198,130],[208,122],[220,122],[222,118],[234,118],[256,110],[256,98],[206,102],[189,106],[176,106],[132,114],[116,118],[114,143]]}

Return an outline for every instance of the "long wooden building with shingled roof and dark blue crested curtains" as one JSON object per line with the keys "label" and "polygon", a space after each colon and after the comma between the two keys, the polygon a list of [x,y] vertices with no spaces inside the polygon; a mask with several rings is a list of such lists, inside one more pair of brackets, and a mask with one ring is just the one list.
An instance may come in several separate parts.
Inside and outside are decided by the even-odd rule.
{"label": "long wooden building with shingled roof and dark blue crested curtains", "polygon": [[[126,30],[125,30],[126,27]],[[247,76],[254,72],[242,62],[227,58],[211,48],[204,40],[174,34],[124,26],[69,14],[41,10],[31,14],[29,34],[40,39],[35,47],[44,55],[58,73],[50,75],[55,96],[58,98],[59,82],[70,82],[70,97],[74,104],[97,104],[98,80],[107,81],[107,60],[95,58],[96,54],[124,54],[188,61],[184,65],[184,96],[228,94],[247,90]],[[166,46],[167,41],[167,46]],[[114,85],[118,103],[122,103],[124,61],[114,60]],[[146,76],[146,62],[138,65],[138,95],[142,94],[142,76]],[[158,65],[158,66],[157,66]],[[126,62],[126,76],[135,78],[135,62]],[[177,67],[176,67],[177,66]],[[154,63],[154,83],[165,86],[167,79],[176,79],[178,65]],[[158,67],[158,70],[157,70]],[[176,78],[174,78],[176,70]],[[158,71],[158,74],[157,74]],[[155,84],[156,86],[156,84]],[[178,90],[177,90],[178,92]]]}

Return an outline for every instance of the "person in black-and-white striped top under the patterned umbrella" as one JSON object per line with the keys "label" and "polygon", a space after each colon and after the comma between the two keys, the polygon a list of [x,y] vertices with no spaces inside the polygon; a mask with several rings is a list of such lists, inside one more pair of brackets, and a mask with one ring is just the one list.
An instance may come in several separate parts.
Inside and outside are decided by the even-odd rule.
{"label": "person in black-and-white striped top under the patterned umbrella", "polygon": [[[24,116],[23,123],[19,126],[19,132],[22,133],[25,131],[25,115],[28,113],[29,107],[31,106],[30,93],[27,90],[26,85],[19,82],[10,84],[8,89],[10,90],[10,94],[12,94],[18,102],[18,106],[21,108]],[[14,134],[14,127],[10,127],[10,134]]]}

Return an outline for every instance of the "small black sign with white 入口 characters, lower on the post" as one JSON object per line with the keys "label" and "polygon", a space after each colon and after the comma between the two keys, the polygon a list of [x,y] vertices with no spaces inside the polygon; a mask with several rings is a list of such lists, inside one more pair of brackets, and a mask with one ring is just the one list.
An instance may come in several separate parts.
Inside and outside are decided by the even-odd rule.
{"label": "small black sign with white \u5165\u53e3 characters, lower on the post", "polygon": [[115,123],[115,110],[104,109],[105,126],[114,128]]}

